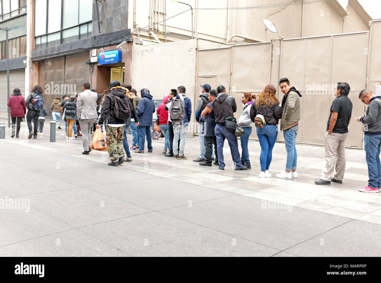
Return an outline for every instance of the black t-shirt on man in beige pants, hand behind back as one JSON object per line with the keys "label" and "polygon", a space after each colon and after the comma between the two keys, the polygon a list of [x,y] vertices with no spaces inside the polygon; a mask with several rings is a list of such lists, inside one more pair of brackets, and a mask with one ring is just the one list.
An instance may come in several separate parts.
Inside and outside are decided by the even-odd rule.
{"label": "black t-shirt on man in beige pants, hand behind back", "polygon": [[335,127],[333,127],[333,133],[347,133],[349,120],[352,116],[352,101],[347,95],[340,95],[337,97],[331,105],[330,116],[328,117],[327,131],[330,128],[330,120],[332,111],[338,113]]}

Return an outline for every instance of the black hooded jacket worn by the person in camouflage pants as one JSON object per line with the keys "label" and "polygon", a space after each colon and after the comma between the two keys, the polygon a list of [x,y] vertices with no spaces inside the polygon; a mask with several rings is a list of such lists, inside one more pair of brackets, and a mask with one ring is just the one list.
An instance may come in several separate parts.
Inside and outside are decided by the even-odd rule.
{"label": "black hooded jacket worn by the person in camouflage pants", "polygon": [[138,116],[134,106],[132,105],[130,99],[126,96],[126,88],[115,87],[111,90],[109,94],[106,95],[102,105],[101,117],[99,118],[98,124],[103,125],[105,119],[107,119],[107,124],[126,124],[126,120],[122,121],[114,117],[114,96],[118,96],[128,103],[130,107],[131,114],[133,115],[135,121],[138,122]]}

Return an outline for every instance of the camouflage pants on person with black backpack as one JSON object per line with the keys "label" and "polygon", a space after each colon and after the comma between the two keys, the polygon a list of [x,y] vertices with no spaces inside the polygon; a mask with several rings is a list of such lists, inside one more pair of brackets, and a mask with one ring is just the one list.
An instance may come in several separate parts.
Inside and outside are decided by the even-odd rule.
{"label": "camouflage pants on person with black backpack", "polygon": [[123,149],[123,132],[125,127],[126,126],[106,126],[107,151],[109,153],[111,162],[118,161],[119,156],[123,156],[124,158],[126,157],[126,153]]}

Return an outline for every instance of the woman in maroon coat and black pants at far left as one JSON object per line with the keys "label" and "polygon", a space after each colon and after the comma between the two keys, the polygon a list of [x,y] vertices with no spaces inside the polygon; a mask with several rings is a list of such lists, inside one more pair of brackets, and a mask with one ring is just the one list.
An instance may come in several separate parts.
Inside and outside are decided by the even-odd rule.
{"label": "woman in maroon coat and black pants at far left", "polygon": [[21,119],[26,114],[25,98],[21,95],[21,91],[19,88],[15,88],[13,90],[13,94],[9,98],[7,105],[10,108],[10,116],[12,120],[11,138],[14,137],[15,131],[16,131],[16,138],[18,138],[19,132],[20,132]]}

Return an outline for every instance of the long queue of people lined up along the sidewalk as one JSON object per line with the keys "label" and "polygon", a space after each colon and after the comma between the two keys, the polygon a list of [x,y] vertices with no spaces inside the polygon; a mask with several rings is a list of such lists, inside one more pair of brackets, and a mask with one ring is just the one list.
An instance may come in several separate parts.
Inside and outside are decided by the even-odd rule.
{"label": "long queue of people lined up along the sidewalk", "polygon": [[[244,92],[241,98],[242,112],[236,121],[237,111],[235,98],[226,93],[226,88],[219,85],[211,89],[209,84],[201,85],[202,93],[197,99],[195,116],[199,122],[200,155],[193,160],[200,166],[218,166],[224,170],[223,146],[225,139],[229,143],[235,170],[251,169],[248,151],[248,140],[253,124],[256,127],[261,154],[259,164],[260,178],[272,177],[269,172],[272,161],[272,150],[278,136],[278,125],[283,132],[287,161],[285,170],[276,174],[277,178],[298,178],[296,136],[301,118],[301,93],[292,87],[287,78],[279,80],[283,98],[280,102],[276,97],[276,88],[266,85],[258,94]],[[66,138],[74,139],[79,129],[83,133],[83,152],[91,151],[91,131],[96,124],[97,129],[106,132],[107,151],[110,156],[110,166],[118,166],[124,161],[132,161],[130,150],[144,153],[147,140],[148,152],[153,152],[150,127],[152,113],[157,113],[160,130],[165,137],[162,154],[173,159],[186,160],[186,133],[191,121],[192,102],[186,95],[186,88],[172,88],[169,95],[164,96],[163,103],[155,108],[153,97],[147,88],[142,88],[140,97],[131,85],[121,85],[114,80],[110,89],[101,95],[90,90],[90,83],[83,84],[83,91],[78,94],[53,100],[50,107],[54,120],[58,120],[61,129],[61,118],[65,121]],[[331,182],[343,183],[346,167],[345,141],[348,135],[348,125],[352,115],[352,101],[348,98],[351,88],[346,82],[338,82],[335,96],[328,117],[325,133],[325,160],[317,185],[328,185]],[[364,145],[368,165],[368,185],[359,191],[378,193],[381,190],[381,96],[375,96],[370,90],[364,89],[359,94],[362,103],[368,105],[365,116],[356,118],[364,124]],[[28,138],[37,138],[37,132],[42,135],[47,110],[43,105],[43,91],[35,85],[27,99],[15,88],[8,101],[12,118],[12,135],[18,138],[20,122],[26,115],[29,130]],[[28,111],[26,111],[28,110]],[[32,121],[34,127],[32,128]],[[76,127],[78,121],[78,127]],[[77,129],[76,129],[77,128]],[[128,147],[126,130],[130,128],[133,139]],[[237,134],[237,129],[240,132]],[[238,139],[240,137],[241,153]],[[336,172],[333,175],[333,172]]]}

